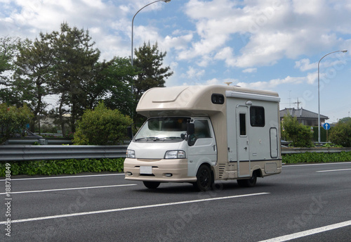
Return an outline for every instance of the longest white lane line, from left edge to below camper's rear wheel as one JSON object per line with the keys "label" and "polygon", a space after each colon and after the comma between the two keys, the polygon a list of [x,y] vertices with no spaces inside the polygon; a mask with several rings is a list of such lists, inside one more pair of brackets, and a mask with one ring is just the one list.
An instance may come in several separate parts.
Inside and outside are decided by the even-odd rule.
{"label": "longest white lane line, from left edge to below camper's rear wheel", "polygon": [[[53,216],[47,216],[47,217],[32,217],[29,219],[11,220],[11,224],[20,223],[20,222],[38,221],[38,220],[44,220],[44,219],[57,219],[60,217],[95,215],[95,214],[105,213],[105,212],[120,212],[120,211],[126,211],[126,210],[137,210],[137,209],[143,209],[143,208],[157,208],[157,207],[187,204],[187,203],[200,203],[200,202],[206,202],[209,200],[224,200],[224,199],[230,199],[230,198],[243,198],[243,197],[248,197],[248,196],[258,196],[258,195],[265,195],[265,194],[270,194],[270,193],[251,193],[251,194],[244,194],[244,195],[237,195],[237,196],[226,196],[226,197],[220,197],[220,198],[204,198],[204,199],[199,199],[199,200],[185,200],[185,201],[174,202],[174,203],[159,203],[159,204],[143,205],[143,206],[136,206],[136,207],[129,207],[129,208],[115,208],[115,209],[98,210],[98,211],[91,211],[91,212],[77,212],[77,213],[70,213],[70,214],[66,214],[66,215],[53,215]],[[6,221],[0,222],[0,224],[5,224],[5,223],[6,223]]]}

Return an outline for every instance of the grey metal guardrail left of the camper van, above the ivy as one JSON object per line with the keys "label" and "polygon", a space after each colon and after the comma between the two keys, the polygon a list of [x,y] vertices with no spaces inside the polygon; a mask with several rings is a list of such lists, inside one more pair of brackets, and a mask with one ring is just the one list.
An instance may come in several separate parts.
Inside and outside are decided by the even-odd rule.
{"label": "grey metal guardrail left of the camper van, above the ivy", "polygon": [[124,158],[128,146],[0,146],[0,161]]}

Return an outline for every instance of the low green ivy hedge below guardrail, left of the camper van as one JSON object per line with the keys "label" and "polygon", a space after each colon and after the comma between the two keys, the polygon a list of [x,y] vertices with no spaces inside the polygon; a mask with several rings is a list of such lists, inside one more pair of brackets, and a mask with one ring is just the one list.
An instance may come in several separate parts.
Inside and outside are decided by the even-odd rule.
{"label": "low green ivy hedge below guardrail, left of the camper van", "polygon": [[17,174],[50,176],[52,174],[77,174],[81,172],[122,172],[124,158],[1,162],[0,177],[5,177],[6,163],[11,164],[11,175],[13,176]]}

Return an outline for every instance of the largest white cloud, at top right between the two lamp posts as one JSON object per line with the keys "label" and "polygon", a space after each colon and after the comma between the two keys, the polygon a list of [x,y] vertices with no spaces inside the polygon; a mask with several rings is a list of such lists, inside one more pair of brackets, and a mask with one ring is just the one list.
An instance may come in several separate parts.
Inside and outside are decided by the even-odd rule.
{"label": "largest white cloud, at top right between the two lamp posts", "polygon": [[[338,44],[340,40],[331,32],[338,23],[335,19],[342,15],[351,20],[350,12],[331,11],[337,2],[246,1],[244,8],[235,4],[227,0],[186,4],[187,15],[196,20],[199,40],[179,53],[180,60],[198,58],[197,63],[204,66],[215,56],[232,67],[274,65],[282,58],[293,59]],[[338,28],[350,34],[350,28],[345,29],[347,21],[340,23]],[[233,34],[240,34],[244,44],[235,56],[223,52],[231,48],[227,45]]]}

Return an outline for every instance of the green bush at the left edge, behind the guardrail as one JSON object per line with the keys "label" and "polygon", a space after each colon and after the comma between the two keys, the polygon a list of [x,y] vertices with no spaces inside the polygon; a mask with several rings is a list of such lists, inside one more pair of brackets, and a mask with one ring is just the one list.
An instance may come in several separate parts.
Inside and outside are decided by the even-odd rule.
{"label": "green bush at the left edge, behind the guardrail", "polygon": [[32,113],[25,105],[21,108],[0,103],[0,144],[14,134],[22,135],[22,129],[32,119]]}

